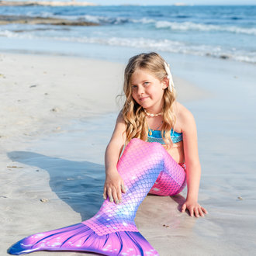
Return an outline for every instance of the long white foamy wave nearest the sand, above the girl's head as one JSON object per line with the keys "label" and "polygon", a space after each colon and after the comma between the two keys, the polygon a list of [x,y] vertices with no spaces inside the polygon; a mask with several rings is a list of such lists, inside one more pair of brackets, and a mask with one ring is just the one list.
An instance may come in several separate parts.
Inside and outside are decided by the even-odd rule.
{"label": "long white foamy wave nearest the sand, above the girl's head", "polygon": [[73,43],[93,43],[101,45],[109,45],[116,47],[133,47],[142,48],[154,51],[164,51],[176,54],[192,54],[198,56],[217,57],[221,59],[230,59],[234,61],[243,61],[251,64],[256,64],[256,52],[237,50],[237,49],[225,49],[220,46],[210,45],[192,45],[188,43],[182,43],[175,40],[153,40],[140,38],[121,38],[121,37],[74,37],[74,36],[33,36],[32,34],[14,33],[9,30],[0,31],[0,36],[9,38],[26,38],[26,39],[43,39],[43,40],[58,40]]}

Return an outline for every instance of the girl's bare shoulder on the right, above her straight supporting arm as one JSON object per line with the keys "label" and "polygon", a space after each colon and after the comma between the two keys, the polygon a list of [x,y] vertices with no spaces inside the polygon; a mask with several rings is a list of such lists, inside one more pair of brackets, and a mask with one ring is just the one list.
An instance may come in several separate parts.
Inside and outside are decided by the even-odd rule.
{"label": "girl's bare shoulder on the right, above her straight supporting arm", "polygon": [[195,119],[192,112],[179,102],[175,102],[175,113],[177,116],[177,123],[182,132],[188,129],[195,128]]}

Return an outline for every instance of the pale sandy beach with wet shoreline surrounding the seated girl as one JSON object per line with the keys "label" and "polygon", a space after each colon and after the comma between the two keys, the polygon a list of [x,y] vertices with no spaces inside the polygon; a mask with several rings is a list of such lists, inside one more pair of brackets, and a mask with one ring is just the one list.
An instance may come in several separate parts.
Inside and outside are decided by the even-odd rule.
{"label": "pale sandy beach with wet shoreline surrounding the seated girl", "polygon": [[[102,33],[101,26],[93,27]],[[124,67],[132,55],[152,50],[19,37],[5,29],[2,35],[11,36],[0,38],[0,255],[23,237],[97,213],[104,153],[122,106],[116,95],[122,94]],[[90,33],[92,26],[86,29]],[[254,59],[159,52],[171,64],[178,102],[195,116],[199,203],[209,214],[197,219],[181,213],[186,189],[175,196],[147,195],[137,228],[161,256],[254,255]]]}

